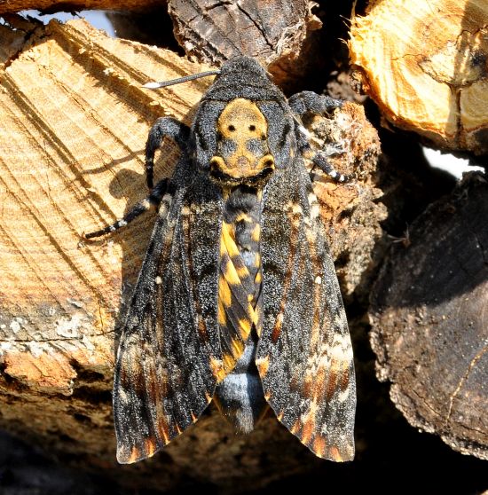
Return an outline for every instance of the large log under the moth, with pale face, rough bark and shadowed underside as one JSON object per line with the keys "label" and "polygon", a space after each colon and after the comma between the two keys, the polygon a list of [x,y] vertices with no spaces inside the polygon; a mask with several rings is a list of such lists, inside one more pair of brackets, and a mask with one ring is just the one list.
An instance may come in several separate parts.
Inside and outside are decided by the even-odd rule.
{"label": "large log under the moth, with pale face, rough bark and shadowed underside", "polygon": [[[106,240],[80,240],[145,195],[149,126],[166,114],[191,122],[211,80],[145,90],[141,84],[147,81],[208,67],[107,38],[82,20],[47,27],[19,22],[15,32],[0,26],[0,426],[77,465],[105,468],[134,486],[145,480],[146,488],[158,490],[192,482],[244,491],[285,472],[317,468],[320,460],[274,418],[253,435],[236,437],[215,413],[154,460],[115,466],[115,328],[153,217]],[[325,179],[319,185],[319,196],[327,197],[323,215],[332,250],[344,259],[342,285],[350,294],[370,264],[374,236],[381,235],[384,208],[374,203],[380,192],[372,178],[379,140],[352,103],[336,111],[334,127],[324,118],[309,125],[318,136],[342,143],[338,169],[358,172],[352,185]],[[176,157],[176,146],[166,143],[156,176],[168,174]]]}

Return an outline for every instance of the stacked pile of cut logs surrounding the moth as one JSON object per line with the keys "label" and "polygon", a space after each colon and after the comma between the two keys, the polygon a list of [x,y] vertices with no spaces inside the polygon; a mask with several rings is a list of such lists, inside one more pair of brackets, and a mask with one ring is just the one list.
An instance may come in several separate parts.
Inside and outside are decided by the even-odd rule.
{"label": "stacked pile of cut logs surrounding the moth", "polygon": [[[431,1],[414,15],[395,0],[355,12],[154,4],[70,3],[113,9],[111,38],[84,20],[15,14],[57,12],[55,1],[0,1],[0,492],[397,491],[389,478],[418,493],[488,489],[488,183],[475,172],[456,185],[420,147],[487,162],[488,2]],[[114,343],[153,216],[104,240],[82,234],[141,199],[147,130],[161,115],[192,122],[211,78],[141,85],[238,52],[288,96],[349,100],[304,123],[317,147],[341,145],[336,169],[357,175],[315,185],[355,350],[357,459],[316,459],[272,416],[234,436],[210,409],[153,459],[118,466]],[[165,142],[156,176],[176,158]]]}

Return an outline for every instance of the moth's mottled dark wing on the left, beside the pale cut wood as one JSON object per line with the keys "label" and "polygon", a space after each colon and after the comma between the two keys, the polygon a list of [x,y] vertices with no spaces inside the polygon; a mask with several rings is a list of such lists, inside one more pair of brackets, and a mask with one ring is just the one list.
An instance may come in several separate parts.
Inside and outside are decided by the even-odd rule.
{"label": "moth's mottled dark wing on the left, beside the pale cut wood", "polygon": [[[180,163],[180,168],[187,164]],[[114,375],[117,459],[157,452],[201,415],[221,373],[216,322],[219,217],[215,187],[174,176],[153,229]]]}

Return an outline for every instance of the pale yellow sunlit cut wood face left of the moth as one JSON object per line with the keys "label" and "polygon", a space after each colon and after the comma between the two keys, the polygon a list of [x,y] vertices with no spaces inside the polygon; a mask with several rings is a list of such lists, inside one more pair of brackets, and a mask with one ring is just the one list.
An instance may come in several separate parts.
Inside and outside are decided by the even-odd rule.
{"label": "pale yellow sunlit cut wood face left of the moth", "polygon": [[[146,90],[208,67],[83,20],[32,29],[29,47],[17,53],[19,39],[5,36],[0,51],[0,359],[20,383],[69,395],[73,362],[112,373],[121,287],[137,278],[153,220],[90,244],[82,234],[144,198],[150,125],[169,114],[191,122],[212,78]],[[156,174],[177,154],[167,143]]]}

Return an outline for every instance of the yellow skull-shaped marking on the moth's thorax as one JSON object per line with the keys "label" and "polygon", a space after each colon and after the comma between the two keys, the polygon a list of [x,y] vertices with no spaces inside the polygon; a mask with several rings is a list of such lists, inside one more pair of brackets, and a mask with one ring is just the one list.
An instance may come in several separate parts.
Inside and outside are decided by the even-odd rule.
{"label": "yellow skull-shaped marking on the moth's thorax", "polygon": [[218,117],[216,131],[210,177],[221,185],[264,184],[275,164],[268,146],[268,122],[256,103],[232,99]]}

